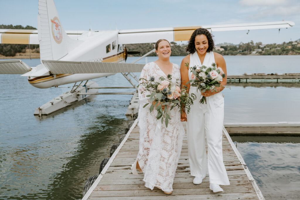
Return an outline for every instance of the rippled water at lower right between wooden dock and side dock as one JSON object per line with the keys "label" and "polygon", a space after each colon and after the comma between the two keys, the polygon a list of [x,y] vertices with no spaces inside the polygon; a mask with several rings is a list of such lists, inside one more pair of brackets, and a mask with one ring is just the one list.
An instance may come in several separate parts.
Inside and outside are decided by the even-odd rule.
{"label": "rippled water at lower right between wooden dock and side dock", "polygon": [[265,199],[300,196],[300,137],[232,136]]}

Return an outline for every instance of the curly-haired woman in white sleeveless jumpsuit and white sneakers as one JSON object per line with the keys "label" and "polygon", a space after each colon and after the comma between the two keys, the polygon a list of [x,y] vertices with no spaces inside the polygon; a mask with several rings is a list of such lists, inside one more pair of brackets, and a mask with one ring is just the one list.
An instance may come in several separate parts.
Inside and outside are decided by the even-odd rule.
{"label": "curly-haired woman in white sleeveless jumpsuit and white sneakers", "polygon": [[[226,74],[226,64],[222,55],[212,52],[214,43],[211,34],[204,28],[194,31],[189,41],[187,55],[181,64],[182,84],[191,79],[190,67],[200,68],[202,65],[210,67],[216,63]],[[189,63],[188,67],[185,63]],[[224,118],[224,99],[220,93],[226,85],[223,78],[217,91],[197,92],[196,87],[189,84],[189,93],[196,94],[196,100],[190,107],[190,112],[182,114],[181,120],[187,121],[187,142],[190,162],[190,174],[195,176],[193,183],[200,184],[206,174],[209,175],[210,189],[223,192],[219,185],[229,185],[229,179],[223,163],[222,155],[222,127]],[[199,103],[202,96],[206,103]],[[207,157],[205,151],[205,135],[207,141]]]}

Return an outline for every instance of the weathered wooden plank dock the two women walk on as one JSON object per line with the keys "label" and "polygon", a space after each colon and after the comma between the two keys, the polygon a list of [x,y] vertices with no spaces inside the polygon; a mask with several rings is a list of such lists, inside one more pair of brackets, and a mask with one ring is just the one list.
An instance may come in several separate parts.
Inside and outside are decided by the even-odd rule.
{"label": "weathered wooden plank dock the two women walk on", "polygon": [[[184,128],[186,124],[183,123]],[[190,175],[187,137],[184,137],[173,184],[173,194],[165,195],[156,187],[153,190],[144,186],[143,174],[131,173],[139,151],[139,127],[137,120],[116,149],[107,165],[83,200],[100,199],[264,199],[240,153],[235,148],[226,129],[223,128],[223,159],[230,185],[221,186],[223,193],[213,193],[209,189],[209,178],[202,184],[193,184]]]}

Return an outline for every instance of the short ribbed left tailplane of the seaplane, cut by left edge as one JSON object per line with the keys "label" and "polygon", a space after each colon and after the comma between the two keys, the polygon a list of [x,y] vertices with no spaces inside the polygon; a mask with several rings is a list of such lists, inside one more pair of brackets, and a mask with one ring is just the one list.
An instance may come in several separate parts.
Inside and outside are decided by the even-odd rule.
{"label": "short ribbed left tailplane of the seaplane, cut by left edge", "polygon": [[0,74],[24,74],[31,70],[31,67],[19,59],[0,61]]}

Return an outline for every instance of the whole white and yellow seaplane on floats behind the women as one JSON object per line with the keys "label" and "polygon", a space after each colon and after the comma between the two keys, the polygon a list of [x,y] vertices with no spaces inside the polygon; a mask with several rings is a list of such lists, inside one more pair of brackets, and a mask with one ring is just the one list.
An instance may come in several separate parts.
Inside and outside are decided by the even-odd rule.
{"label": "whole white and yellow seaplane on floats behind the women", "polygon": [[[138,81],[134,72],[140,72],[144,65],[135,64],[136,61],[126,63],[128,54],[136,53],[127,51],[126,44],[155,43],[159,39],[167,39],[169,42],[187,41],[197,28],[206,28],[211,32],[234,30],[249,32],[254,29],[290,28],[293,25],[295,23],[291,21],[277,21],[133,30],[65,31],[54,1],[39,0],[38,29],[0,29],[0,43],[39,44],[41,64],[29,67],[19,59],[0,61],[0,73],[27,76],[29,84],[37,88],[74,83],[70,91],[50,100],[34,112],[34,115],[49,115],[89,95],[104,94],[98,93],[101,87],[96,82],[89,81],[91,79],[122,73],[132,84],[132,88],[137,89],[129,76]],[[132,94],[137,98],[137,92]]]}

